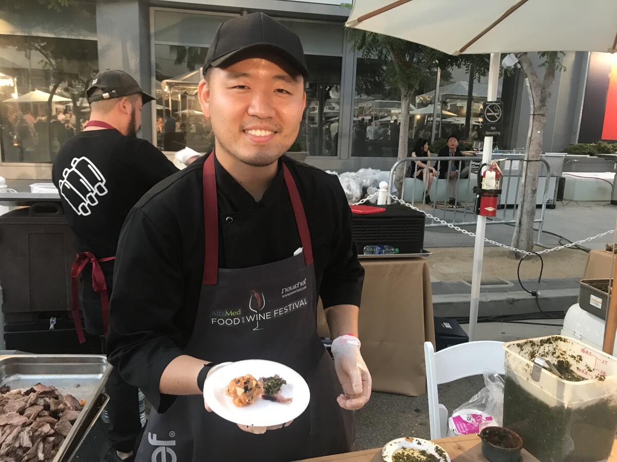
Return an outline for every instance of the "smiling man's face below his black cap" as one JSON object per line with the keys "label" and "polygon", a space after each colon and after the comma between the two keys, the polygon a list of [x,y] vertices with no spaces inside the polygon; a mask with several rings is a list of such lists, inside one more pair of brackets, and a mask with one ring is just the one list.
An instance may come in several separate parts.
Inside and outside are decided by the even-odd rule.
{"label": "smiling man's face below his black cap", "polygon": [[267,166],[296,141],[306,103],[304,79],[281,57],[254,51],[199,84],[199,102],[218,147]]}

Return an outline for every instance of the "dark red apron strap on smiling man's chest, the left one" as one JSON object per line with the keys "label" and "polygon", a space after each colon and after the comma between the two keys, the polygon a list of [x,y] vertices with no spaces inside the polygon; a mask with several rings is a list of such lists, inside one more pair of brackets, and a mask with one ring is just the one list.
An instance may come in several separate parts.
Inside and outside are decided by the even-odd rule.
{"label": "dark red apron strap on smiling man's chest, the left one", "polygon": [[218,203],[214,152],[204,163],[204,276],[203,285],[216,285],[218,277]]}

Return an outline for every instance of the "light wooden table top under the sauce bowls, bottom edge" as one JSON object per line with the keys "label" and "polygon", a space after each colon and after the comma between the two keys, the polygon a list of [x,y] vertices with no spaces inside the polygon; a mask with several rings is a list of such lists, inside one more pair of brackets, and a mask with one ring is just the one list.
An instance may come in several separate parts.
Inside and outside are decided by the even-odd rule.
{"label": "light wooden table top under the sauce bowls, bottom edge", "polygon": [[[436,444],[444,448],[452,462],[478,462],[486,459],[482,456],[481,439],[477,435],[464,435],[452,438],[434,440]],[[523,449],[521,462],[538,462],[538,460]],[[610,461],[617,461],[617,445],[613,446]],[[381,448],[366,451],[338,454],[334,456],[307,459],[304,462],[383,462]]]}

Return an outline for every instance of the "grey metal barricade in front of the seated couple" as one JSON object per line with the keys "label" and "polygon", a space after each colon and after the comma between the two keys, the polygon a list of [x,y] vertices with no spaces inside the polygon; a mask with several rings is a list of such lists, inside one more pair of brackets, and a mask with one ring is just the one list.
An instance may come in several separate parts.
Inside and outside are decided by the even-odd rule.
{"label": "grey metal barricade in front of the seated couple", "polygon": [[[415,164],[416,161],[427,164],[428,167],[421,168]],[[486,224],[515,224],[522,195],[524,153],[494,153],[491,161],[497,162],[502,170],[502,194],[499,198],[497,215],[487,217]],[[478,184],[477,175],[481,174],[478,172],[478,166],[481,163],[482,156],[452,156],[449,158],[429,156],[400,159],[390,170],[388,188],[393,189],[397,169],[404,168],[405,177],[400,198],[418,209],[441,218],[447,224],[475,225],[478,217],[474,214],[476,195],[473,193],[473,187]],[[541,245],[547,200],[549,198],[553,200],[557,192],[557,176],[553,176],[549,162],[542,158],[540,164],[538,190],[541,192],[544,189],[544,191],[540,195],[542,200],[539,201],[540,197],[536,199],[536,205],[541,206],[539,216],[536,211],[534,219],[534,223],[538,224],[537,245]],[[436,175],[434,171],[437,172]],[[457,174],[452,174],[453,172]],[[544,182],[544,188],[542,188],[542,182]],[[424,191],[426,190],[431,196],[430,205],[424,203]],[[391,199],[388,203],[391,203]],[[430,221],[426,227],[447,224]]]}

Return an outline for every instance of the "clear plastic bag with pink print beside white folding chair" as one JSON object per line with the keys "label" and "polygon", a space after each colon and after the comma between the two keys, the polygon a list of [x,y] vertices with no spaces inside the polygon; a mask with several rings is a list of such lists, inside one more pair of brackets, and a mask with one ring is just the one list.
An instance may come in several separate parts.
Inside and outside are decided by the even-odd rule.
{"label": "clear plastic bag with pink print beside white folding chair", "polygon": [[468,402],[453,411],[448,419],[448,436],[479,433],[503,422],[503,378],[495,371],[484,370],[484,384]]}

